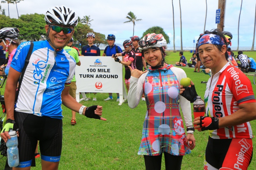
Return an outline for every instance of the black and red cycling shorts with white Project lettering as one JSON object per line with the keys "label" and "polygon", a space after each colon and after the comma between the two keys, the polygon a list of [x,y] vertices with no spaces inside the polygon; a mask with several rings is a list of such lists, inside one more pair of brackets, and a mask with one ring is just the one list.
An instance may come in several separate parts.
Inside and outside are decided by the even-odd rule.
{"label": "black and red cycling shorts with white Project lettering", "polygon": [[213,139],[209,136],[204,169],[248,169],[252,153],[252,139]]}

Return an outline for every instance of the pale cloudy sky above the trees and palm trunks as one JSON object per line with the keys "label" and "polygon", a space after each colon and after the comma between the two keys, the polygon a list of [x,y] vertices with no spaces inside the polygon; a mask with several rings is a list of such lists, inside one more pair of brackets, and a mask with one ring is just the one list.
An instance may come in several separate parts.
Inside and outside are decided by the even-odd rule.
{"label": "pale cloudy sky above the trees and palm trunks", "polygon": [[[179,0],[174,3],[175,46],[181,46],[180,31],[180,7]],[[251,47],[255,20],[255,0],[245,0],[242,5],[239,31],[239,47]],[[169,35],[170,44],[173,46],[173,9],[171,0],[24,0],[17,3],[19,15],[22,14],[45,14],[52,6],[65,5],[74,9],[82,18],[90,15],[91,28],[101,34],[114,34],[116,43],[122,44],[124,40],[133,35],[133,24],[123,23],[128,21],[126,16],[132,11],[137,19],[135,22],[134,35],[142,36],[143,32],[150,27],[160,26]],[[1,3],[2,9],[6,9],[7,3]],[[227,0],[225,9],[224,30],[233,34],[231,49],[236,50],[238,41],[238,17],[241,0]],[[207,0],[206,30],[217,28],[215,24],[218,0]],[[10,17],[18,18],[15,4],[9,4]],[[205,0],[181,0],[182,13],[182,42],[183,50],[186,47],[194,47],[193,40],[197,40],[203,32],[206,16]],[[256,42],[255,42],[256,46]],[[232,48],[233,47],[233,48]]]}

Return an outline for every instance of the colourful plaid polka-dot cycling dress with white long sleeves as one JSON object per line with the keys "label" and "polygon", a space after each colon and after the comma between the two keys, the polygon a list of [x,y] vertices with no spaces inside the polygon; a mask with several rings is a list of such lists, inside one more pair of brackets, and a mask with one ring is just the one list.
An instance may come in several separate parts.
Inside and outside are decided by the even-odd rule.
{"label": "colourful plaid polka-dot cycling dress with white long sleeves", "polygon": [[[176,73],[181,73],[178,73],[177,76],[171,68]],[[132,91],[129,90],[129,94],[137,93],[137,96],[134,97],[135,95],[133,95],[132,98],[132,95],[128,94],[129,106],[136,107],[137,99],[142,92],[145,94],[147,103],[139,155],[157,156],[163,152],[171,155],[190,153],[179,107],[179,81],[186,77],[186,73],[183,73],[182,69],[178,69],[174,68],[173,65],[166,65],[160,69],[150,69],[140,79],[131,77],[130,90]],[[135,86],[136,89],[134,89]],[[186,112],[184,115],[186,125],[192,126],[190,103],[183,97],[181,98],[183,113]]]}

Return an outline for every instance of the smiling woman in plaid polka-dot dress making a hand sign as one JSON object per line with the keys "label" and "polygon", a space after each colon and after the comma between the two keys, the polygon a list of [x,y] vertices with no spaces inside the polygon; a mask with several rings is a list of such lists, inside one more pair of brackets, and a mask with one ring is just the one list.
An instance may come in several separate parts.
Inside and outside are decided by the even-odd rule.
{"label": "smiling woman in plaid polka-dot dress making a hand sign", "polygon": [[[165,62],[167,42],[162,34],[147,34],[139,45],[151,67],[143,72],[129,67],[128,105],[135,108],[143,92],[147,103],[138,154],[144,155],[147,170],[161,169],[163,153],[166,169],[180,170],[183,155],[190,154],[190,149],[195,147],[190,103],[179,95],[180,80],[187,76],[182,69]],[[188,146],[190,140],[193,143],[191,147]]]}

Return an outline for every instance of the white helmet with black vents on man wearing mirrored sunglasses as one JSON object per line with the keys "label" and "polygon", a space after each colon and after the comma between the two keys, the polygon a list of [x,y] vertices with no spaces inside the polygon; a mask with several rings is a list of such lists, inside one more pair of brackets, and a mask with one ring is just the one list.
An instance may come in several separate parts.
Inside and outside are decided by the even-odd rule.
{"label": "white helmet with black vents on man wearing mirrored sunglasses", "polygon": [[57,23],[63,25],[76,26],[78,24],[78,14],[66,6],[50,7],[45,14],[47,24]]}

